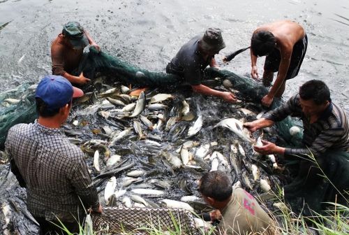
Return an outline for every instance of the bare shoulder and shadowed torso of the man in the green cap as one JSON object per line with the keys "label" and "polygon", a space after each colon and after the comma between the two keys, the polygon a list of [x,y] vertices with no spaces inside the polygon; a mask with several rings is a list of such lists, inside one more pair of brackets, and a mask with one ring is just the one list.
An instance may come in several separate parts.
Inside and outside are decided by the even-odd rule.
{"label": "bare shoulder and shadowed torso of the man in the green cap", "polygon": [[59,34],[51,45],[52,74],[64,76],[77,69],[82,58],[84,49],[74,50],[66,45],[63,35]]}

